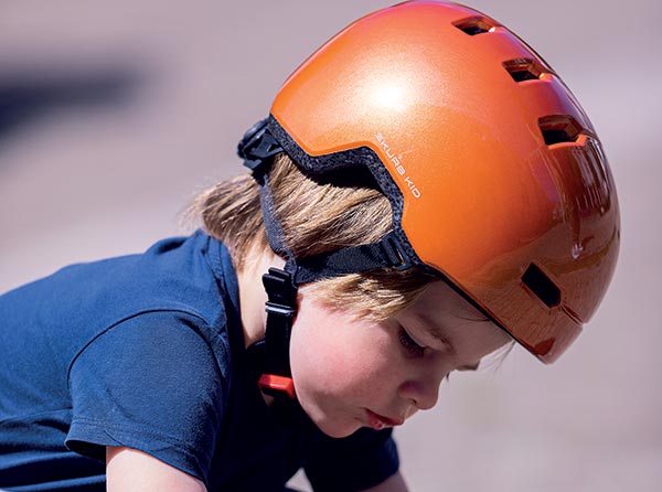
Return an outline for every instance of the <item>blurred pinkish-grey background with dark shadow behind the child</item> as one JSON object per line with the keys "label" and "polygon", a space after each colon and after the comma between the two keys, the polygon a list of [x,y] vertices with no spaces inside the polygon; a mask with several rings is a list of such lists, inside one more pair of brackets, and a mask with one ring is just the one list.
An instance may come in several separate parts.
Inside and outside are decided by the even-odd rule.
{"label": "blurred pinkish-grey background with dark shadow behind the child", "polygon": [[[236,142],[287,75],[387,4],[2,2],[0,291],[180,234],[197,191],[243,172]],[[435,410],[397,430],[403,471],[415,491],[660,491],[662,3],[471,4],[533,45],[591,117],[622,249],[569,352],[543,366],[515,350],[498,370],[453,375]]]}

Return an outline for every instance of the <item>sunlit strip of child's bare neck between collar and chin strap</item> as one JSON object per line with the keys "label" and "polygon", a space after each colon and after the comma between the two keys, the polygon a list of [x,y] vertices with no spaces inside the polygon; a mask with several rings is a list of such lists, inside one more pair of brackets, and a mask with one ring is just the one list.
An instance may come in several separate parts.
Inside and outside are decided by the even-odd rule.
{"label": "sunlit strip of child's bare neck between collar and chin strap", "polygon": [[244,268],[237,272],[242,328],[246,347],[265,338],[267,293],[261,282],[261,276],[269,268],[282,268],[284,266],[285,260],[274,254],[271,249],[253,248],[246,257]]}

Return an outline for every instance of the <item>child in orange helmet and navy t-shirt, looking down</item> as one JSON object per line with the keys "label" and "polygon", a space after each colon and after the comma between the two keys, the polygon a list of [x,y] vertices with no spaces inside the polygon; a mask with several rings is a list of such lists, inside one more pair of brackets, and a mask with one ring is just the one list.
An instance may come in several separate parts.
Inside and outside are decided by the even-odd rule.
{"label": "child in orange helmet and navy t-shirt, looking down", "polygon": [[513,340],[556,360],[616,265],[590,121],[466,7],[356,21],[239,154],[192,236],[0,298],[0,488],[405,490],[392,428]]}

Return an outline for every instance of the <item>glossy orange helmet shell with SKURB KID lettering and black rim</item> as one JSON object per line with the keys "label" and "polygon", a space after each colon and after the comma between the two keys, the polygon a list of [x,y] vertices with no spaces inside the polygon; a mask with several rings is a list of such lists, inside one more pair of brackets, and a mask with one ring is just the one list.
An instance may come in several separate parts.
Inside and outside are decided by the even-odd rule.
{"label": "glossy orange helmet shell with SKURB KID lettering and black rim", "polygon": [[286,81],[268,129],[305,171],[366,165],[407,265],[542,361],[600,303],[620,235],[602,147],[558,75],[495,20],[435,1],[364,17]]}

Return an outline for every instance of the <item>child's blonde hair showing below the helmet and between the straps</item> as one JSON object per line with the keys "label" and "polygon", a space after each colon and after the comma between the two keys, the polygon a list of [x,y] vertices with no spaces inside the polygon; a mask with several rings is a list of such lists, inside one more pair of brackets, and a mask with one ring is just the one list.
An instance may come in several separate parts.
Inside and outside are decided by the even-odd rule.
{"label": "child's blonde hair showing below the helmet and between the straps", "polygon": [[[392,231],[391,204],[374,186],[321,182],[303,174],[285,153],[276,157],[268,178],[274,215],[296,258],[374,243]],[[189,214],[199,215],[206,232],[228,247],[238,271],[252,252],[269,248],[259,188],[248,174],[206,190]],[[417,268],[384,268],[319,280],[311,293],[332,308],[381,321],[412,303],[435,279]]]}

